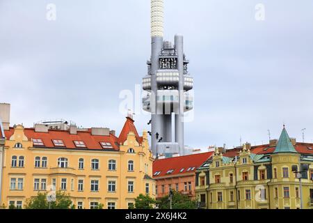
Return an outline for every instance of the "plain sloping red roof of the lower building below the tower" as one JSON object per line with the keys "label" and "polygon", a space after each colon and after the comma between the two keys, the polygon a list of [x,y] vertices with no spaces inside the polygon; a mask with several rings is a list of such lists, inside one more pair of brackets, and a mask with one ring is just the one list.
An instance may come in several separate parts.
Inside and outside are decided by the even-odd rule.
{"label": "plain sloping red roof of the lower building below the tower", "polygon": [[[198,153],[193,155],[184,155],[179,157],[155,160],[153,162],[153,174],[155,174],[157,171],[161,171],[161,173],[157,176],[154,176],[154,178],[164,176],[172,177],[173,175],[177,174],[194,173],[195,170],[200,167],[206,160],[208,160],[213,154],[214,152]],[[190,167],[195,167],[195,169],[187,171]],[[173,169],[174,171],[172,171],[171,174],[166,174],[171,169]],[[184,171],[181,172],[182,169],[184,169]]]}

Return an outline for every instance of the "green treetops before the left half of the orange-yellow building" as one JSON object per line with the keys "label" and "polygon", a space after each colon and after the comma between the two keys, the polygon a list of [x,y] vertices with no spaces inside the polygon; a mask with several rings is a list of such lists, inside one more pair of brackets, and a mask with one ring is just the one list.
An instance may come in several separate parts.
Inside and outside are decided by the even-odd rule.
{"label": "green treetops before the left half of the orange-yellow building", "polygon": [[26,200],[26,209],[72,209],[74,205],[70,199],[70,194],[58,191],[56,192],[56,201],[50,204],[47,201],[47,192],[38,192],[37,197],[32,197]]}

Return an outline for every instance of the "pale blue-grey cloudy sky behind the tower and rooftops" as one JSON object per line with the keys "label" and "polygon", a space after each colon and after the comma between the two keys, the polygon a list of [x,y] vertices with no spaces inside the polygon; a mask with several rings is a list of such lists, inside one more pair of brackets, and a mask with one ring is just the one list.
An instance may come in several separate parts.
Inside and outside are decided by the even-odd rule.
{"label": "pale blue-grey cloudy sky behind the tower and rooftops", "polygon": [[[186,145],[265,144],[283,124],[312,142],[312,0],[164,1],[164,38],[184,35],[194,78]],[[63,118],[119,133],[120,93],[135,95],[149,58],[150,1],[0,0],[0,102],[11,104],[11,125]],[[150,130],[149,115],[134,119]]]}

